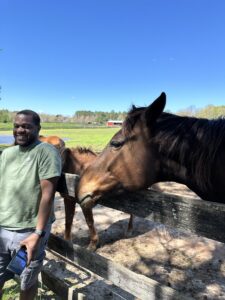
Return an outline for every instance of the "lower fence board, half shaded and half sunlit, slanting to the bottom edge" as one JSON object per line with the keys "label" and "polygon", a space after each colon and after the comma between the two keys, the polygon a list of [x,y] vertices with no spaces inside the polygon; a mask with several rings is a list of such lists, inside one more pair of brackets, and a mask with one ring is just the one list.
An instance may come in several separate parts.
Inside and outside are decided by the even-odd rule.
{"label": "lower fence board, half shaded and half sunlit, slanting to the bottom edge", "polygon": [[91,272],[111,281],[116,286],[143,300],[166,299],[184,300],[192,299],[179,294],[170,287],[161,285],[144,275],[130,271],[129,269],[112,262],[96,253],[90,252],[78,245],[51,234],[48,247],[67,257],[76,264]]}

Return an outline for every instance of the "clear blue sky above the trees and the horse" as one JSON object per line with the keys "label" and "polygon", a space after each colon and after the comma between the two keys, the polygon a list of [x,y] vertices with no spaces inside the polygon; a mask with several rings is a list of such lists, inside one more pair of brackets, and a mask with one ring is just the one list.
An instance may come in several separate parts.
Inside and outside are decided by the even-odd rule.
{"label": "clear blue sky above the trees and the horse", "polygon": [[1,0],[0,109],[225,105],[224,0]]}

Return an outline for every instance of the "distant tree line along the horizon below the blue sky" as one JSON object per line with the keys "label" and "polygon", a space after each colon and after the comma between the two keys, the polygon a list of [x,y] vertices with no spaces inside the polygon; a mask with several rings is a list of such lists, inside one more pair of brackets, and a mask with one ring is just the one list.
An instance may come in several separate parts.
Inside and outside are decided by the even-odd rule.
{"label": "distant tree line along the horizon below the blue sky", "polygon": [[[7,109],[0,109],[0,122],[11,123],[14,119],[16,111],[9,111]],[[181,116],[193,116],[198,118],[214,119],[225,116],[225,106],[207,105],[204,108],[197,109],[195,106],[190,106],[186,109],[176,112]],[[108,120],[124,120],[127,112],[103,112],[103,111],[89,111],[79,110],[73,116],[64,116],[61,114],[51,115],[40,113],[42,122],[58,122],[58,123],[78,123],[78,124],[96,124],[104,125]]]}

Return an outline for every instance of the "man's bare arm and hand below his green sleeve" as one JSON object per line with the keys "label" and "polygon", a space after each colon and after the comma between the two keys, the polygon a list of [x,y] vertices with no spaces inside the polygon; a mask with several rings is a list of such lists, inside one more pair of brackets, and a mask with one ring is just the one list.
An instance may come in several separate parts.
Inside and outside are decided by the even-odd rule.
{"label": "man's bare arm and hand below his green sleeve", "polygon": [[[44,230],[47,225],[48,219],[50,217],[53,199],[56,191],[56,186],[59,177],[54,177],[50,179],[43,179],[40,181],[41,184],[41,201],[38,209],[37,217],[37,230]],[[27,264],[33,259],[35,251],[40,240],[40,236],[36,233],[32,233],[25,240],[21,241],[21,246],[25,246],[27,249]]]}

